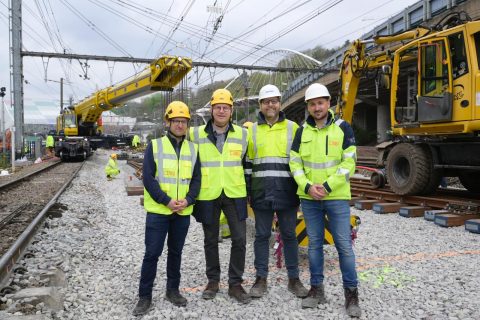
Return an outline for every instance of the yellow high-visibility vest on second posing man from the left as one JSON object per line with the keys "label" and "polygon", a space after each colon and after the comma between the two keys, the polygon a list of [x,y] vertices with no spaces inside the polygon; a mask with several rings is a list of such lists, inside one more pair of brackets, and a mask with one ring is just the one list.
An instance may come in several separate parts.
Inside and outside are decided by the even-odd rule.
{"label": "yellow high-visibility vest on second posing man from the left", "polygon": [[190,129],[190,139],[198,144],[202,183],[198,200],[215,200],[222,190],[229,198],[247,196],[242,159],[247,151],[246,129],[233,125],[222,153],[208,139],[205,125]]}

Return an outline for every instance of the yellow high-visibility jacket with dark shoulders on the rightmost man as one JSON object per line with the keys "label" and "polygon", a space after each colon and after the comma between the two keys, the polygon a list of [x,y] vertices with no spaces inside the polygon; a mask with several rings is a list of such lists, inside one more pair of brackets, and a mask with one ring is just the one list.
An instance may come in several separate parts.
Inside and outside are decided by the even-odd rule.
{"label": "yellow high-visibility jacket with dark shoulders on the rightmost man", "polygon": [[312,197],[305,193],[307,183],[323,184],[331,188],[322,200],[349,200],[350,176],[355,173],[356,147],[343,150],[344,132],[340,124],[344,120],[332,121],[318,129],[305,125],[302,131],[299,152],[292,150],[290,169],[298,184],[300,198]]}

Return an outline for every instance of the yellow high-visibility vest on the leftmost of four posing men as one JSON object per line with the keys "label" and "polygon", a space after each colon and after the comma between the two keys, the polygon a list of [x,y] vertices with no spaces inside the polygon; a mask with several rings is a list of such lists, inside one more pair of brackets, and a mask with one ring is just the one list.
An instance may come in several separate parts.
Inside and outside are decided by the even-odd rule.
{"label": "yellow high-visibility vest on the leftmost of four posing men", "polygon": [[[192,180],[193,168],[197,161],[197,146],[190,141],[184,140],[180,148],[180,157],[177,157],[175,149],[169,138],[164,136],[152,140],[152,151],[155,165],[157,166],[155,179],[160,189],[174,200],[185,199],[190,181]],[[172,210],[162,203],[158,203],[150,196],[147,189],[143,190],[143,206],[147,212],[158,214],[172,214]],[[179,215],[189,215],[193,206],[188,206]]]}

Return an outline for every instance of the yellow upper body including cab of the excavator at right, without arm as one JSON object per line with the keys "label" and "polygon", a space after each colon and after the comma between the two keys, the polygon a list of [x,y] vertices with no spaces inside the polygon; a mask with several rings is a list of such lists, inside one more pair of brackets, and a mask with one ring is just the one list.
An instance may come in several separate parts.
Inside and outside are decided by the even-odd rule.
{"label": "yellow upper body including cab of the excavator at right, without arm", "polygon": [[477,120],[472,109],[476,99],[472,64],[480,47],[480,31],[472,29],[452,28],[395,52],[390,97],[395,134],[471,132],[461,122]]}

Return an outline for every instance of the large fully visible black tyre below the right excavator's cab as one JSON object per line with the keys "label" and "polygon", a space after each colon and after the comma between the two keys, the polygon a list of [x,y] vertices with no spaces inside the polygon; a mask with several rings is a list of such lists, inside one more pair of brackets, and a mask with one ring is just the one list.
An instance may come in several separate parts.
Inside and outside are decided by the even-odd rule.
{"label": "large fully visible black tyre below the right excavator's cab", "polygon": [[419,145],[400,143],[388,154],[387,178],[390,188],[396,194],[424,193],[432,171],[432,157]]}

